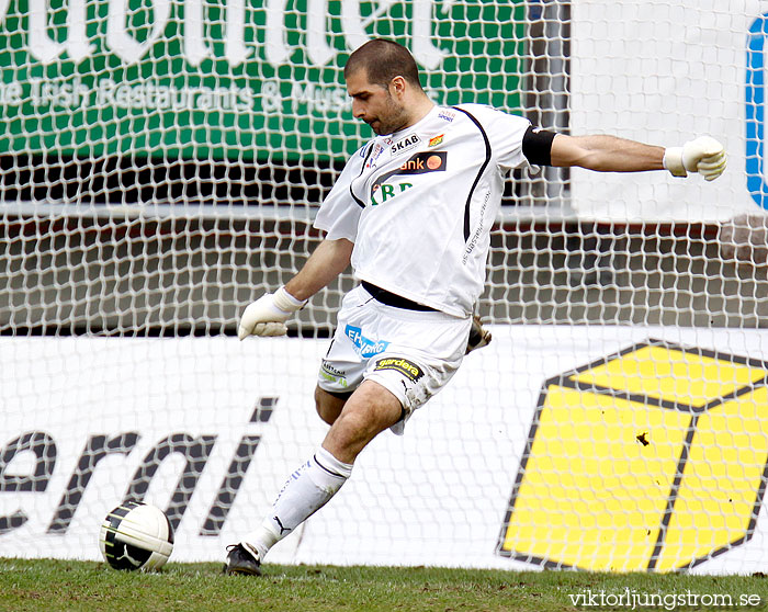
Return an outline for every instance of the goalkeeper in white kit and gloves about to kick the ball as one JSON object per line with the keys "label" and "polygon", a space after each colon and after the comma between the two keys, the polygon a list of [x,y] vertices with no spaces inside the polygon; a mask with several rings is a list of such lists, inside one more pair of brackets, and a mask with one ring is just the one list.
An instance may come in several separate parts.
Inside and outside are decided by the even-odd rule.
{"label": "goalkeeper in white kit and gloves about to kick the ball", "polygon": [[[315,401],[330,429],[285,483],[257,529],[228,546],[225,569],[259,574],[267,552],[321,508],[382,431],[402,433],[467,352],[489,231],[513,168],[599,172],[666,169],[722,174],[722,145],[704,136],[662,148],[611,136],[566,136],[489,106],[434,105],[403,46],[371,41],[349,57],[355,118],[376,136],[351,156],[317,214],[326,233],[302,270],[242,313],[240,339],[285,333],[285,321],[351,262],[361,284],[343,298]],[[483,344],[475,327],[472,344]]]}

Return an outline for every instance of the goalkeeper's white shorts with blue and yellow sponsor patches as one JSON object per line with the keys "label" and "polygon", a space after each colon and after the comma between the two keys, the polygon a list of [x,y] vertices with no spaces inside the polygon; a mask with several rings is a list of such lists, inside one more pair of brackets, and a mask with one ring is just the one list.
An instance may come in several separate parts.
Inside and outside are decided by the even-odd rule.
{"label": "goalkeeper's white shorts with blue and yellow sponsor patches", "polygon": [[455,374],[471,327],[471,318],[387,306],[358,286],[341,303],[318,385],[338,395],[375,381],[403,406],[404,418],[392,428],[402,434],[413,411]]}

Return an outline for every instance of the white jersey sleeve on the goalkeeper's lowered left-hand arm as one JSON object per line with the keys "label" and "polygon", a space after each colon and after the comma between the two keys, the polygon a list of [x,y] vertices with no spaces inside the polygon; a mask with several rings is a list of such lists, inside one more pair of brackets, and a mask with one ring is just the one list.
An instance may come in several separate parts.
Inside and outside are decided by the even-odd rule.
{"label": "white jersey sleeve on the goalkeeper's lowered left-hand arm", "polygon": [[346,238],[354,242],[358,237],[358,223],[362,207],[354,201],[350,191],[352,180],[362,170],[364,156],[371,145],[365,145],[347,161],[338,180],[320,204],[313,226],[326,231],[326,239]]}

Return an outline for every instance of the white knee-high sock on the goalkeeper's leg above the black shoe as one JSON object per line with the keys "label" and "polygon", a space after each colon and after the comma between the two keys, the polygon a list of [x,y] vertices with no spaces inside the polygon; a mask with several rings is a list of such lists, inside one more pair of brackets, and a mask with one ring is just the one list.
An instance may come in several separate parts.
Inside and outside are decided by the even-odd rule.
{"label": "white knee-high sock on the goalkeeper's leg above the black shoe", "polygon": [[351,464],[340,462],[320,446],[308,462],[291,474],[270,514],[241,544],[259,560],[263,559],[274,544],[323,508],[350,474]]}

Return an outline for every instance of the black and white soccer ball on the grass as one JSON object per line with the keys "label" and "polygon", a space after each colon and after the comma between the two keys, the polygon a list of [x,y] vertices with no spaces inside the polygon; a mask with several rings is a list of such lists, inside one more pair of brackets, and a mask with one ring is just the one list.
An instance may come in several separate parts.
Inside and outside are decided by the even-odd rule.
{"label": "black and white soccer ball on the grass", "polygon": [[126,501],[106,514],[99,544],[115,569],[159,569],[173,551],[173,528],[159,508]]}

